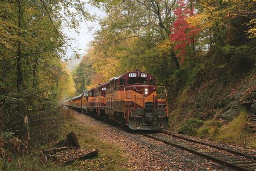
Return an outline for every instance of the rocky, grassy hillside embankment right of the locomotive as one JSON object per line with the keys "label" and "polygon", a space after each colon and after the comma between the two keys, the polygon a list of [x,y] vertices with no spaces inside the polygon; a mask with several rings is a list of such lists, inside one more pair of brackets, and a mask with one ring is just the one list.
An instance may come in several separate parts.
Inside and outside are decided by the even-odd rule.
{"label": "rocky, grassy hillside embankment right of the locomotive", "polygon": [[251,70],[240,73],[221,68],[186,71],[186,81],[197,78],[197,83],[185,83],[172,99],[170,129],[256,147],[256,72],[251,65]]}

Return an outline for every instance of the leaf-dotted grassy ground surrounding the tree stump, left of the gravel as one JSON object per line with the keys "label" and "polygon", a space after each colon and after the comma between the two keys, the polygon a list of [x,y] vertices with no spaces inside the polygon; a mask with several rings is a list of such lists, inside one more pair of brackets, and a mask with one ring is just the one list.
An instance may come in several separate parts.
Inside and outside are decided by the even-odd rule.
{"label": "leaf-dotted grassy ground surrounding the tree stump, left of the gravel", "polygon": [[[5,170],[126,170],[122,169],[122,163],[126,161],[122,150],[117,146],[104,142],[97,137],[100,129],[97,126],[87,126],[83,121],[76,119],[70,114],[64,113],[62,124],[55,131],[59,134],[59,140],[65,139],[68,133],[75,132],[82,148],[98,149],[96,158],[84,161],[75,161],[71,165],[58,167],[49,161],[41,163],[40,154],[47,145],[34,147],[22,156],[11,156],[14,161],[5,162]],[[10,155],[9,155],[10,156]],[[0,159],[3,166],[3,160]]]}

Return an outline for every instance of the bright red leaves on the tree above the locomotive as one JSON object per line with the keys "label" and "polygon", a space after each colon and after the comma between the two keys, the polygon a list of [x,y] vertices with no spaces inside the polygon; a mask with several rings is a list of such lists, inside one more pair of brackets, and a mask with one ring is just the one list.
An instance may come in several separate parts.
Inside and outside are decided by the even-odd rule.
{"label": "bright red leaves on the tree above the locomotive", "polygon": [[173,49],[179,51],[177,56],[181,57],[181,63],[183,63],[186,47],[194,42],[193,37],[199,33],[199,28],[195,28],[186,20],[187,17],[193,15],[194,9],[188,8],[183,1],[178,2],[178,4],[180,5],[179,8],[174,11],[177,18],[170,28],[172,32],[170,33],[170,40],[176,43]]}

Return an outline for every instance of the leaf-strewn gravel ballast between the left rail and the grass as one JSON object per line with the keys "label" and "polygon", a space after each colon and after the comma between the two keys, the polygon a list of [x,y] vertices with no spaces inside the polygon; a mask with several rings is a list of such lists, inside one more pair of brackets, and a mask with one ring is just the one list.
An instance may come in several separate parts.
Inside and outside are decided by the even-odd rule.
{"label": "leaf-strewn gravel ballast between the left rail and the grass", "polygon": [[95,136],[122,149],[127,158],[127,162],[123,163],[123,168],[138,170],[227,169],[213,161],[144,135],[111,126],[88,115],[75,112],[75,117],[86,125],[97,126],[100,131]]}

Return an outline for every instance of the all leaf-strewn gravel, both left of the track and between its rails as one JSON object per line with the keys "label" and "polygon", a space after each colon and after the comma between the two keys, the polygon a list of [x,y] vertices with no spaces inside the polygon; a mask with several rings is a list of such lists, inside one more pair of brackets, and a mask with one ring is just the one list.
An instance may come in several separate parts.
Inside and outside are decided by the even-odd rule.
{"label": "all leaf-strewn gravel, both left of the track and between its rails", "polygon": [[[231,166],[223,165],[223,163],[218,161],[213,161],[210,158],[205,159],[204,156],[198,156],[193,154],[193,152],[184,151],[178,147],[173,147],[167,145],[163,140],[170,141],[171,135],[165,133],[147,134],[148,136],[156,136],[152,139],[138,132],[131,132],[127,130],[120,129],[119,127],[114,127],[104,122],[98,121],[89,117],[88,115],[83,115],[76,112],[78,119],[85,122],[86,125],[96,125],[100,129],[99,136],[100,139],[115,144],[122,148],[125,156],[127,158],[127,163],[124,163],[124,168],[130,169],[228,169]],[[174,140],[175,137],[171,139]],[[212,149],[213,147],[204,147],[204,145],[193,145],[196,142],[185,143],[182,139],[178,138],[180,146],[192,147],[191,150],[198,149],[200,153],[212,152],[213,157],[217,154],[225,154],[230,156],[230,158],[235,156],[230,155],[230,152],[224,152],[223,149]],[[185,140],[184,140],[185,141]],[[245,156],[240,156],[242,159],[235,165],[241,166],[244,169],[244,162],[251,162],[254,159],[245,158]],[[220,159],[220,158],[219,158]],[[254,166],[254,164],[252,165]],[[233,169],[238,169],[234,168]],[[246,170],[251,170],[251,168],[245,168]]]}

